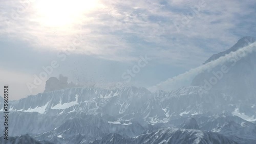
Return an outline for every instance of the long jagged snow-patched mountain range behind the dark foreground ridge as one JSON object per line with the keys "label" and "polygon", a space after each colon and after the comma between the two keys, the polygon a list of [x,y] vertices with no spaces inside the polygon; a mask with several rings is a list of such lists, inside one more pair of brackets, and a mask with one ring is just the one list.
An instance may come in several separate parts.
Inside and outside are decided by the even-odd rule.
{"label": "long jagged snow-patched mountain range behind the dark foreground ridge", "polygon": [[[200,87],[197,86],[156,93],[137,87],[116,90],[70,88],[41,93],[19,101],[10,101],[9,122],[15,124],[9,128],[10,135],[29,133],[40,141],[88,143],[111,133],[131,138],[173,127],[236,136],[239,143],[256,139],[253,134],[246,134],[254,132],[255,124],[247,122],[253,117],[239,111],[244,105],[253,111],[253,101],[248,103],[243,99],[235,100],[218,92],[200,96],[198,90]],[[238,102],[240,105],[237,105]],[[226,118],[212,117],[223,111],[227,113]],[[233,114],[244,119],[229,116]],[[185,118],[191,115],[194,118]],[[211,118],[214,119],[210,120]],[[221,121],[218,120],[221,118]],[[238,124],[234,125],[237,129],[227,128],[230,121]],[[241,134],[245,134],[243,137],[249,136],[250,140],[243,139]]]}

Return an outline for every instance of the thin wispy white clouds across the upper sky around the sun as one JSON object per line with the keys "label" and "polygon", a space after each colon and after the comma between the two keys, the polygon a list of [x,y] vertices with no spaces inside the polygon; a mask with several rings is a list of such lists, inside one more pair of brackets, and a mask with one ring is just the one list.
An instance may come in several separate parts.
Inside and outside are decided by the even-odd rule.
{"label": "thin wispy white clouds across the upper sky around the sun", "polygon": [[[251,3],[255,4],[253,1],[205,0],[198,15],[177,32],[174,21],[182,25],[181,19],[201,2],[100,1],[97,9],[77,16],[79,22],[63,28],[42,25],[35,1],[19,19],[2,22],[0,33],[27,40],[37,49],[57,51],[67,49],[72,38],[81,34],[84,41],[75,53],[118,61],[135,60],[139,54],[147,53],[159,62],[196,66],[211,55],[209,52],[215,53],[232,45],[240,37],[231,32],[238,29],[242,21],[238,18],[255,12],[249,8]],[[10,18],[11,12],[20,5],[24,3],[4,2],[2,19]]]}

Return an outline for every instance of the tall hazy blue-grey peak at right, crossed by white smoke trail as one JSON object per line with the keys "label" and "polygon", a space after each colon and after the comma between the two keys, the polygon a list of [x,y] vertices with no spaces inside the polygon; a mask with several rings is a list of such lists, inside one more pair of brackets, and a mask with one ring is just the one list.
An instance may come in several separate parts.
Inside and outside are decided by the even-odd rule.
{"label": "tall hazy blue-grey peak at right, crossed by white smoke trail", "polygon": [[[253,42],[255,42],[255,38],[244,37],[230,49],[211,56],[205,61],[205,63],[237,51],[243,46],[247,46]],[[243,54],[241,53],[237,56],[231,57],[229,58],[230,62],[218,65],[197,75],[191,85],[207,85],[207,87],[212,87],[215,90],[222,90],[223,92],[234,91],[243,95],[252,94],[251,92],[254,91],[251,90],[256,86],[256,52],[252,52],[245,57],[242,57],[242,59],[239,59],[239,57],[241,57],[240,55],[242,56]]]}

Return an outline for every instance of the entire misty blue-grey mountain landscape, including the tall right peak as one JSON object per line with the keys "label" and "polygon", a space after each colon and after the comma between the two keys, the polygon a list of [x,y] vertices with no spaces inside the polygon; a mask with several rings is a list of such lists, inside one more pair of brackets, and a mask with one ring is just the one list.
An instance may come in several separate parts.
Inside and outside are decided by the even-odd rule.
{"label": "entire misty blue-grey mountain landscape, including the tall right peak", "polygon": [[9,102],[9,134],[16,143],[256,143],[254,41],[244,37],[213,55],[204,65],[254,50],[215,63],[176,90],[49,84]]}

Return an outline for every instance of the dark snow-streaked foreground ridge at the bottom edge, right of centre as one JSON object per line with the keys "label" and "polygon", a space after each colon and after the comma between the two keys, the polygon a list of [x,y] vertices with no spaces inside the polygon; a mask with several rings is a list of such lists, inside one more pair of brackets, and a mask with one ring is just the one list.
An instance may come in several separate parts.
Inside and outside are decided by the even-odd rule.
{"label": "dark snow-streaked foreground ridge at the bottom edge, right of centre", "polygon": [[180,143],[230,143],[235,144],[237,142],[228,139],[227,137],[206,131],[200,130],[187,130],[187,129],[160,129],[152,133],[143,134],[133,138],[124,138],[118,134],[111,134],[104,136],[99,140],[95,140],[92,144],[112,144],[112,143],[123,143],[123,144],[180,144]]}

